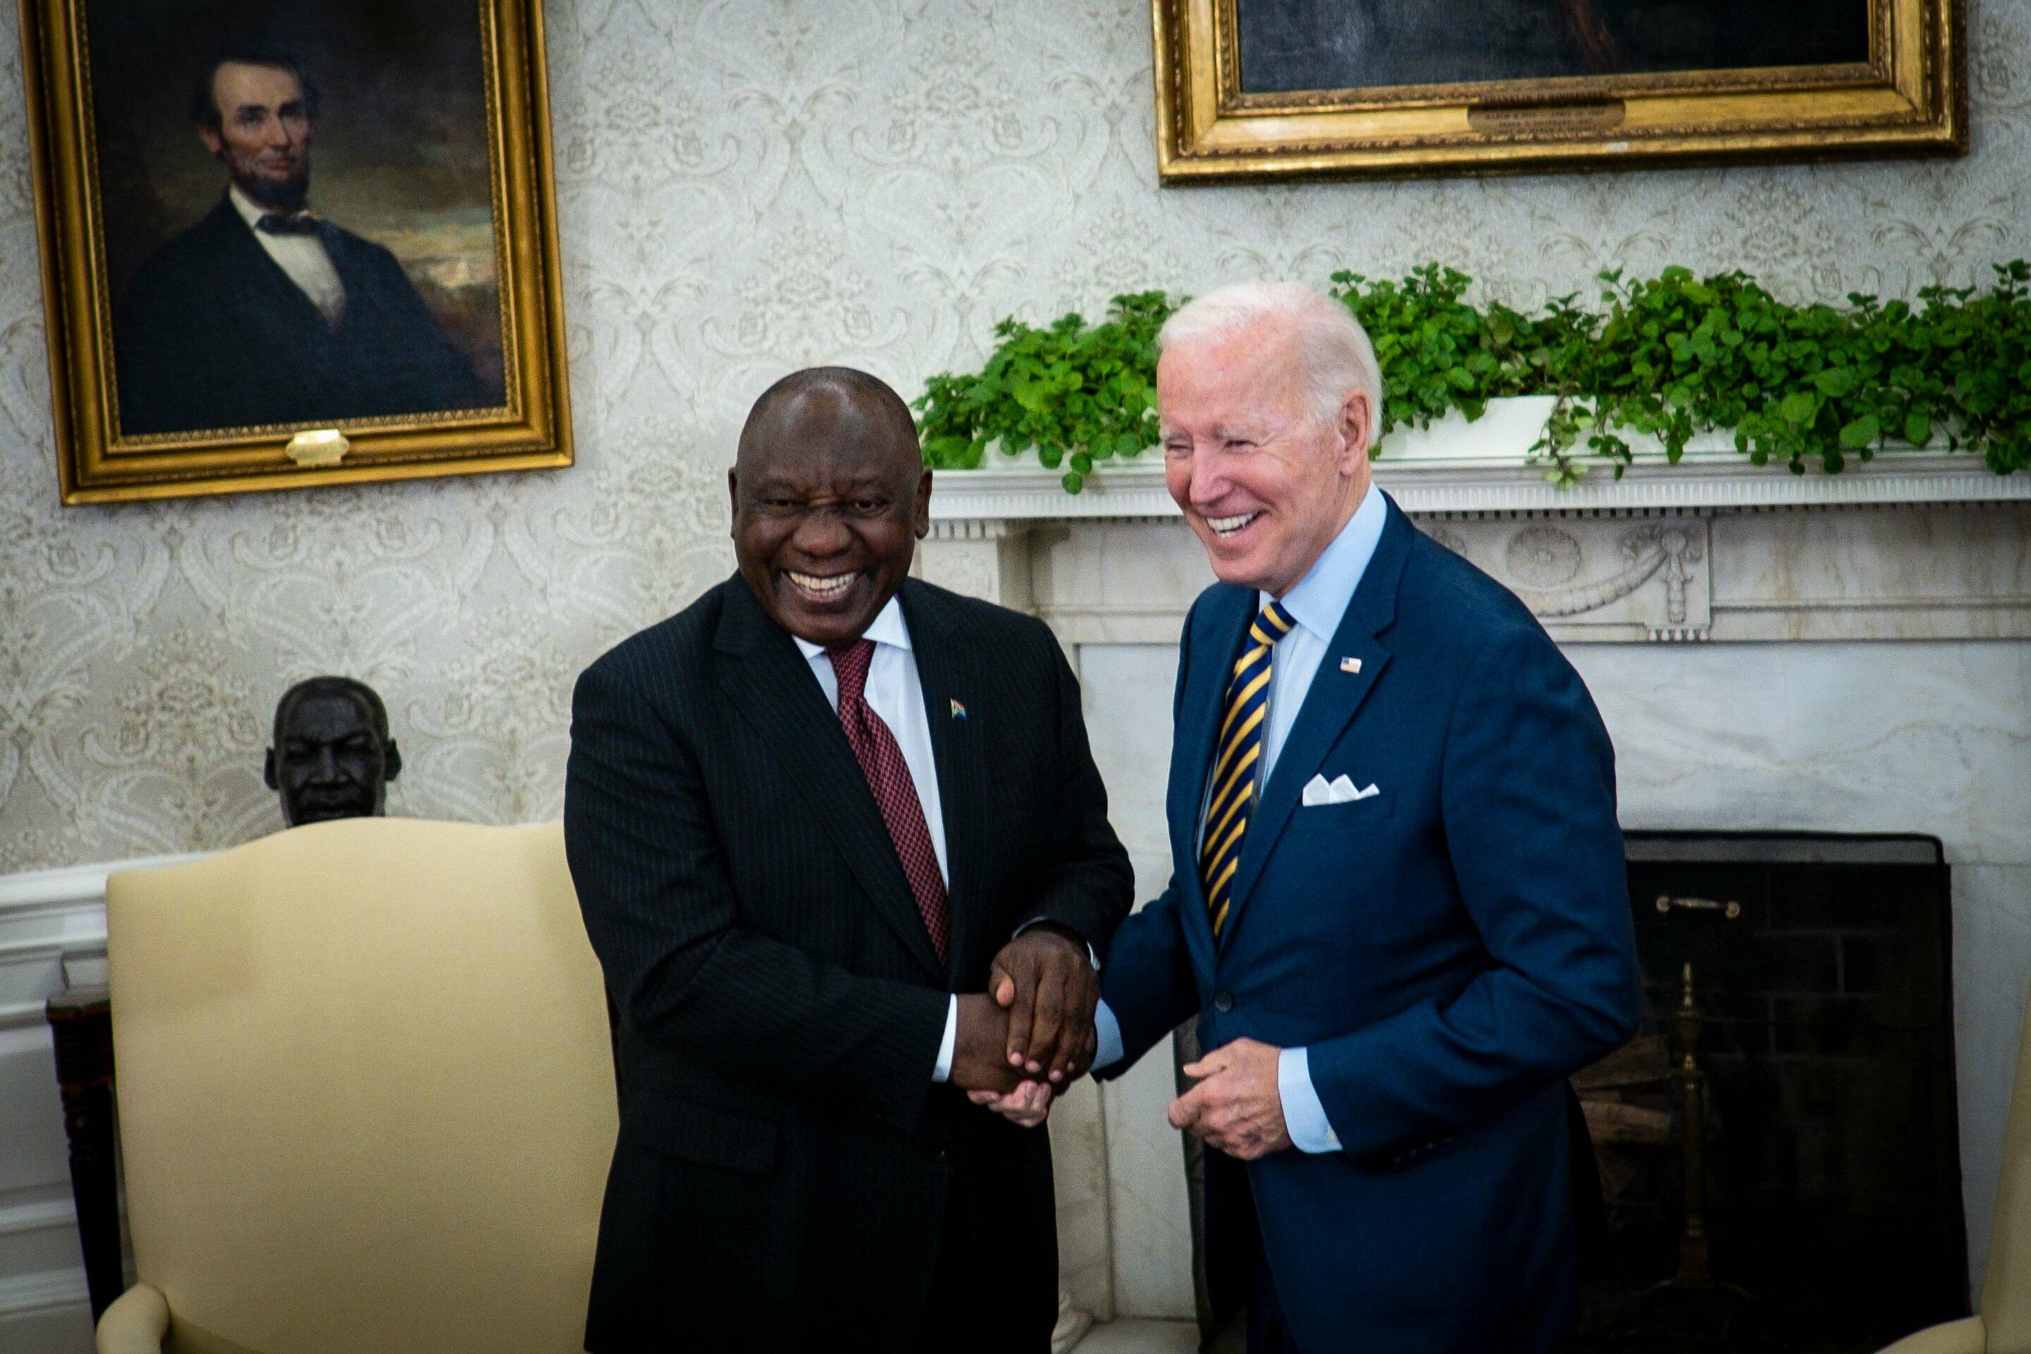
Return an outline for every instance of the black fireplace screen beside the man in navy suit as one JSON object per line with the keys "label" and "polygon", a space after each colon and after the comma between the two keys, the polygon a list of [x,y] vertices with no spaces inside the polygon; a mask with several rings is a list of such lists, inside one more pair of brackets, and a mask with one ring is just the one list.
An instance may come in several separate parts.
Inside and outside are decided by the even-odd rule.
{"label": "black fireplace screen beside the man in navy suit", "polygon": [[1966,1315],[1940,842],[1627,847],[1645,1021],[1576,1078],[1617,1271],[1578,1348],[1862,1354]]}

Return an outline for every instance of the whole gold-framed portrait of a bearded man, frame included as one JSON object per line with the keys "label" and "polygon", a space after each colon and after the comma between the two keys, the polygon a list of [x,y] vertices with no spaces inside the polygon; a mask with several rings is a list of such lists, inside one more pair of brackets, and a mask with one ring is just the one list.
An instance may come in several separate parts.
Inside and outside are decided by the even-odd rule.
{"label": "whole gold-framed portrait of a bearded man, frame included", "polygon": [[[540,0],[410,6],[420,18],[412,16],[406,37],[380,32],[384,49],[347,37],[345,22],[374,32],[366,6],[349,8],[347,0],[219,0],[183,10],[124,0],[18,0],[18,6],[65,503],[571,465]],[[258,30],[246,30],[250,16],[260,20]],[[136,26],[144,20],[156,24],[152,35]],[[321,134],[317,146],[321,158],[327,142],[339,146],[329,156],[343,168],[329,177],[335,193],[345,183],[378,185],[341,193],[341,203],[372,209],[374,191],[394,203],[368,211],[380,223],[380,238],[317,215],[319,191],[309,197],[313,211],[301,211],[303,189],[315,183],[313,164],[321,162],[309,152],[309,134],[297,215],[256,219],[262,207],[227,187],[248,179],[240,175],[242,162],[227,158],[232,146],[219,150],[217,142],[225,130],[217,110],[227,97],[217,83],[221,61],[240,63],[232,69],[242,71],[252,61],[256,73],[274,67],[284,77],[294,71],[301,126],[335,122],[337,99],[323,95],[319,112],[315,71],[307,61],[297,63],[297,49],[282,49],[272,61],[262,55],[280,49],[270,28],[280,24],[286,32],[290,20],[323,35],[307,49],[313,57],[325,53],[331,65],[341,65],[331,53],[351,57],[337,85],[359,95],[351,106],[353,148],[347,152],[339,128],[331,128],[337,136]],[[232,24],[252,37],[213,41]],[[165,26],[173,26],[175,43],[162,41]],[[416,32],[435,43],[429,53],[410,51]],[[124,55],[142,39],[146,55]],[[248,41],[264,47],[246,49]],[[396,47],[386,47],[390,41]],[[246,51],[256,55],[248,59]],[[380,67],[378,51],[386,51]],[[445,71],[443,83],[414,79],[418,69]],[[158,79],[136,79],[134,71]],[[177,79],[185,93],[177,93]],[[189,93],[193,87],[217,95],[209,118],[213,140],[203,140],[205,122],[197,114],[203,95]],[[189,108],[191,122],[165,112],[173,97],[185,99],[175,108]],[[370,126],[376,118],[392,130]],[[435,144],[433,134],[441,134]],[[433,187],[439,181],[451,187]],[[209,197],[199,201],[199,191]],[[244,223],[232,217],[236,203]],[[301,280],[290,290],[299,270],[282,262],[256,225],[268,235],[315,235],[331,260],[323,272],[339,280],[335,302]],[[193,242],[201,229],[211,231],[201,242],[207,250],[219,244],[230,254],[199,252]],[[223,272],[227,264],[232,270]],[[213,296],[232,296],[232,304],[215,307]],[[274,325],[301,323],[309,333],[319,315],[311,302],[325,311],[335,337],[297,349],[290,369],[315,374],[323,384],[309,376],[301,386],[278,384],[278,367],[262,363],[276,351],[272,337],[294,331]],[[179,315],[191,311],[203,311],[203,323],[179,329]],[[146,325],[134,319],[142,313]],[[402,347],[412,339],[429,347],[435,367]],[[201,353],[191,359],[199,365],[179,367],[193,349]],[[187,390],[191,369],[201,376],[197,394]],[[266,378],[254,376],[260,371]],[[169,396],[150,394],[144,402],[144,390]]]}

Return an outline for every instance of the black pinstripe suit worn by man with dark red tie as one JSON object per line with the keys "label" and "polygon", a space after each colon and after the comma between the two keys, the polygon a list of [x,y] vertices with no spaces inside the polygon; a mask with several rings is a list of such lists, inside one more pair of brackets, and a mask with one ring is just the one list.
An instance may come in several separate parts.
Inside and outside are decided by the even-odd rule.
{"label": "black pinstripe suit worn by man with dark red tie", "polygon": [[739,577],[579,678],[565,844],[626,1084],[589,1350],[906,1348],[951,1190],[1007,1295],[979,1348],[1046,1348],[1050,1143],[930,1074],[946,995],[981,991],[1018,926],[1105,950],[1133,885],[1050,631],[916,581],[902,607],[948,968],[837,715]]}

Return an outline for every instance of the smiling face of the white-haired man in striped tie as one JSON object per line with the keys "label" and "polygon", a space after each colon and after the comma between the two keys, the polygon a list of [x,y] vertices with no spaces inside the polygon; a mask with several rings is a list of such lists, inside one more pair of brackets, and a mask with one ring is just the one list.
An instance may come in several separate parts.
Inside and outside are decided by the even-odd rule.
{"label": "smiling face of the white-haired man in striped tie", "polygon": [[1369,491],[1369,400],[1320,420],[1286,327],[1164,349],[1156,367],[1164,485],[1223,583],[1282,597]]}

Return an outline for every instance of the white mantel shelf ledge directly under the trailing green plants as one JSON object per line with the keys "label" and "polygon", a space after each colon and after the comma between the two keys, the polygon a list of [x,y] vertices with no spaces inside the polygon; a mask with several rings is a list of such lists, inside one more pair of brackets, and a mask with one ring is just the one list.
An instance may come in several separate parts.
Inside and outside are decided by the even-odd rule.
{"label": "white mantel shelf ledge directly under the trailing green plants", "polygon": [[[2031,475],[1996,475],[1976,453],[1889,449],[1840,475],[1793,475],[1753,465],[1732,436],[1696,438],[1678,465],[1661,449],[1637,451],[1621,479],[1596,457],[1572,489],[1546,479],[1527,451],[1544,428],[1550,398],[1497,400],[1479,422],[1446,418],[1426,430],[1393,432],[1375,457],[1377,481],[1414,514],[1574,514],[1763,510],[1881,503],[2031,501]],[[1060,487],[1060,471],[1005,461],[979,471],[938,471],[930,516],[940,524],[1018,524],[1174,518],[1156,453],[1103,465],[1083,493]]]}

